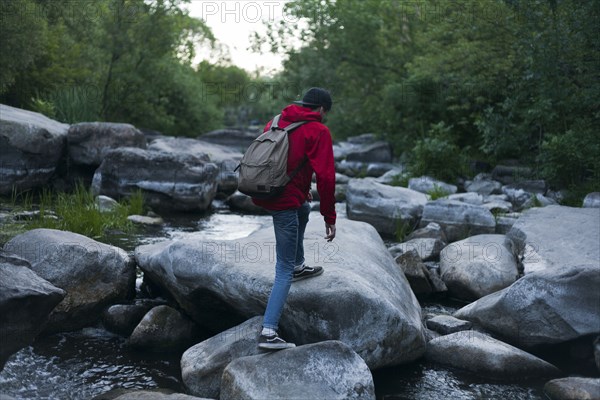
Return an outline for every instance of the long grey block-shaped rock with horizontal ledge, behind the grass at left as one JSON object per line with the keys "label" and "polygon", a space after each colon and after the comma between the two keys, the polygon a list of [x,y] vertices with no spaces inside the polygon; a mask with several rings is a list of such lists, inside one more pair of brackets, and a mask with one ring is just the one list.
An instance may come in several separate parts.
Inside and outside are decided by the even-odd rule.
{"label": "long grey block-shaped rock with horizontal ledge, behind the grass at left", "polygon": [[216,195],[218,173],[207,157],[124,148],[105,156],[92,189],[117,198],[141,189],[150,207],[203,211]]}

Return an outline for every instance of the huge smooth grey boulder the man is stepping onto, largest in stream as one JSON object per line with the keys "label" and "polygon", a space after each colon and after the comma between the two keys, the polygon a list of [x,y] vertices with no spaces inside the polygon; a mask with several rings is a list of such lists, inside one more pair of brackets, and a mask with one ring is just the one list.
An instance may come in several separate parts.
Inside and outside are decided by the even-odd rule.
{"label": "huge smooth grey boulder the man is stepping onto, largest in stream", "polygon": [[[324,242],[323,220],[311,215],[306,262],[325,272],[292,285],[281,319],[287,337],[296,344],[339,338],[372,368],[417,359],[425,339],[408,281],[370,225],[345,220],[337,229],[344,240]],[[274,245],[272,228],[264,227],[246,238],[162,242],[135,254],[146,276],[201,326],[219,332],[264,313]]]}

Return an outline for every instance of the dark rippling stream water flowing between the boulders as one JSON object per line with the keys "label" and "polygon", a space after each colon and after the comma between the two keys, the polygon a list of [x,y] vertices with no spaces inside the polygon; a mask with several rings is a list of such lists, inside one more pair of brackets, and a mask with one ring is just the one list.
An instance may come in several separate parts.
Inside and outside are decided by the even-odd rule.
{"label": "dark rippling stream water flowing between the boulders", "polygon": [[[344,210],[340,209],[341,214]],[[217,205],[212,214],[166,218],[160,228],[114,234],[109,242],[133,251],[139,244],[183,238],[236,239],[270,223]],[[455,305],[428,303],[423,313],[452,313]],[[111,389],[163,388],[183,392],[180,354],[130,351],[125,338],[100,326],[39,339],[13,355],[0,372],[2,394],[16,399],[90,399]],[[425,361],[373,373],[379,400],[545,399],[542,381],[493,382]]]}

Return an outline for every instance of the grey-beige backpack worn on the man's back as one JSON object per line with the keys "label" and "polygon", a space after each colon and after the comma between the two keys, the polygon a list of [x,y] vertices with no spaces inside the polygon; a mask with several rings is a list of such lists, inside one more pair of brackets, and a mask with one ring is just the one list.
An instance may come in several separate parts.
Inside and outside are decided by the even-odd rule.
{"label": "grey-beige backpack worn on the man's back", "polygon": [[308,121],[280,128],[280,117],[273,118],[271,128],[254,139],[235,169],[240,170],[238,190],[248,196],[257,199],[277,197],[306,164],[305,158],[290,175],[287,174],[288,134]]}

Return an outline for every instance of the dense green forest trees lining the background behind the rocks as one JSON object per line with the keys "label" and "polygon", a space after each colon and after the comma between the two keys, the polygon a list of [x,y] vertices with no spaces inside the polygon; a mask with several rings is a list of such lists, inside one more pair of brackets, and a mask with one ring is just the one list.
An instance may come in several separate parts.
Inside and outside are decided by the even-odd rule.
{"label": "dense green forest trees lining the background behind the rocks", "polygon": [[597,0],[292,0],[253,38],[275,76],[232,65],[185,3],[1,2],[0,102],[196,137],[322,86],[335,139],[375,133],[413,176],[515,163],[573,198],[600,190]]}

